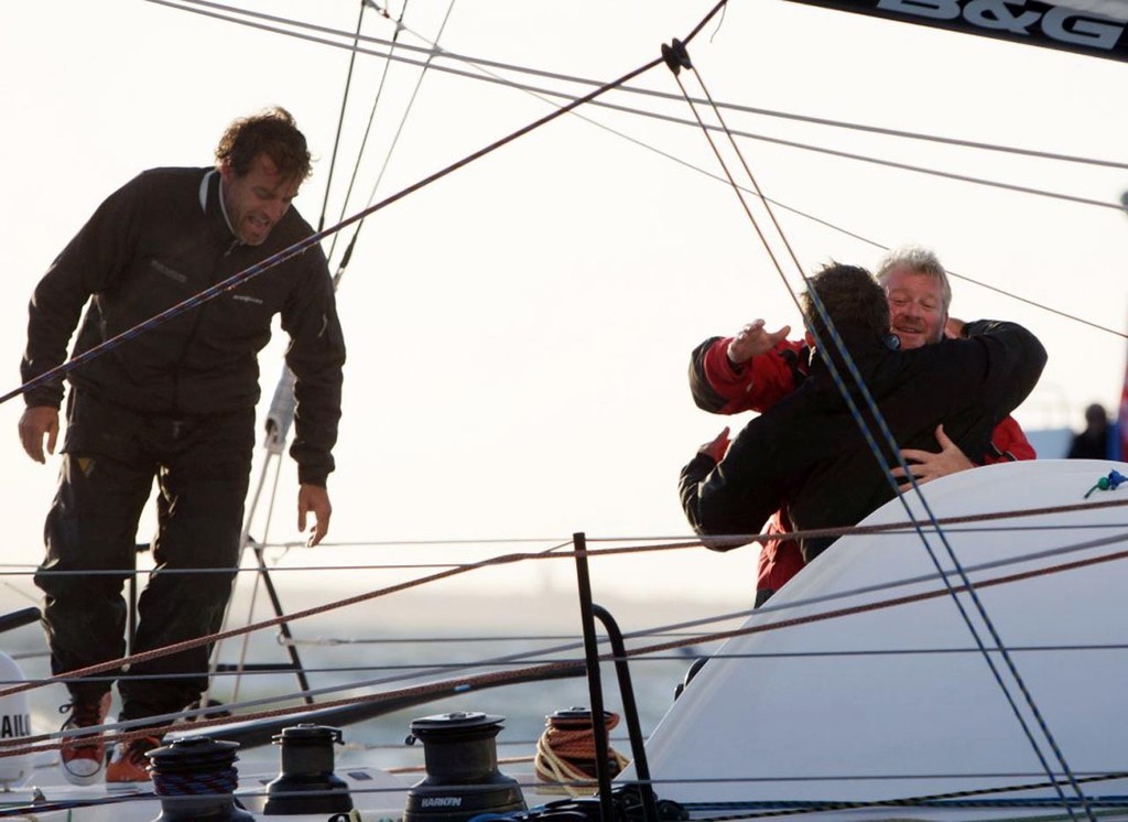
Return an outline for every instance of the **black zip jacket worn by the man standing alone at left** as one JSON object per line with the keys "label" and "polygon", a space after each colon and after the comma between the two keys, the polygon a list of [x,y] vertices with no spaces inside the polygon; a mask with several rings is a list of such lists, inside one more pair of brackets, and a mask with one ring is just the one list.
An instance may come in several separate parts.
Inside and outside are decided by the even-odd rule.
{"label": "black zip jacket worn by the man standing alone at left", "polygon": [[[80,353],[309,237],[290,209],[261,246],[231,233],[219,175],[144,171],[98,207],[35,289],[20,371],[28,381],[64,362],[83,306]],[[253,408],[257,353],[281,315],[298,410],[291,454],[303,483],[324,485],[341,416],[344,338],[325,255],[314,246],[209,302],[139,334],[69,374],[97,397],[142,414],[193,416]],[[28,391],[59,407],[61,381]]]}

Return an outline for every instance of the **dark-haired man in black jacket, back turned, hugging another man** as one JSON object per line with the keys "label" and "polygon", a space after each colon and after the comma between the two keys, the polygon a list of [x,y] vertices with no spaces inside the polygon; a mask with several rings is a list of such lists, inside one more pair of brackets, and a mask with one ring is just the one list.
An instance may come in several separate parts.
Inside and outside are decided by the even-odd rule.
{"label": "dark-haired man in black jacket, back turned, hugging another man", "polygon": [[[960,339],[899,351],[885,294],[864,268],[830,265],[808,289],[808,325],[834,352],[812,306],[813,289],[902,449],[936,451],[934,432],[943,424],[964,453],[982,453],[995,425],[1025,399],[1046,364],[1046,350],[1030,332],[992,320],[967,324]],[[722,434],[682,469],[681,505],[697,533],[757,533],[781,507],[797,530],[854,525],[893,497],[885,467],[831,381],[828,352],[819,354],[803,385],[752,419],[726,453]],[[830,357],[852,385],[840,354]],[[851,394],[876,432],[856,387]],[[896,453],[874,437],[884,461],[896,465]],[[807,562],[831,541],[807,541]]]}

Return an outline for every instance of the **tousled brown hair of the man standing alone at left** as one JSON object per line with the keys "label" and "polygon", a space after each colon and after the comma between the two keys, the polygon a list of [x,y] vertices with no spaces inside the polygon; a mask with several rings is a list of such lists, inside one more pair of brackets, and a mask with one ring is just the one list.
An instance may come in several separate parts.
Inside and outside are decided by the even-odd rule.
{"label": "tousled brown hair of the man standing alone at left", "polygon": [[259,154],[271,158],[284,179],[300,183],[312,170],[306,136],[281,106],[231,123],[215,147],[215,166],[227,163],[243,177]]}

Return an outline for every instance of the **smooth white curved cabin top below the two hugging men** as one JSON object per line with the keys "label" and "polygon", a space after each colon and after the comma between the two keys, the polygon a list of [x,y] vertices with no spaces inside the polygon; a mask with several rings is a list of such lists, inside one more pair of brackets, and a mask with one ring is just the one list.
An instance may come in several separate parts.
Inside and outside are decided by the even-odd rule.
{"label": "smooth white curved cabin top below the two hugging men", "polygon": [[[1128,494],[1125,486],[1084,500],[1110,468],[1128,470],[1008,463],[924,492],[937,518],[1099,503]],[[893,501],[861,524],[905,520]],[[1116,558],[1128,548],[1123,509],[945,531],[1022,686],[971,596],[959,593],[958,608],[943,591],[917,534],[846,537],[749,619],[756,633],[728,642],[655,728],[647,755],[659,794],[684,803],[870,803],[1004,789],[980,798],[1059,802],[1047,770],[1068,781],[1063,760],[1092,780],[1081,781],[1087,795],[1128,794],[1128,783],[1109,778],[1126,764],[1128,566]],[[926,534],[953,572],[935,533]],[[1043,787],[1012,790],[1036,784]],[[1069,785],[1063,792],[1075,795]]]}

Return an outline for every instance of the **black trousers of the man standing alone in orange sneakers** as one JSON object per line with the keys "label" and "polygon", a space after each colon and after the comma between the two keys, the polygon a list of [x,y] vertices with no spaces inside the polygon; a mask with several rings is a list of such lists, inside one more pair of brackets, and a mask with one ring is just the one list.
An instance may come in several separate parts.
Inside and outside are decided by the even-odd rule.
{"label": "black trousers of the man standing alone in orange sneakers", "polygon": [[[138,521],[157,484],[156,569],[138,602],[133,653],[218,631],[239,559],[255,412],[139,415],[82,391],[68,408],[59,490],[47,514],[44,594],[51,666],[65,673],[125,653],[125,580]],[[210,571],[215,569],[215,571]],[[210,646],[131,665],[122,719],[182,709],[208,687]],[[121,671],[68,683],[97,698]],[[174,675],[168,674],[187,674]]]}

